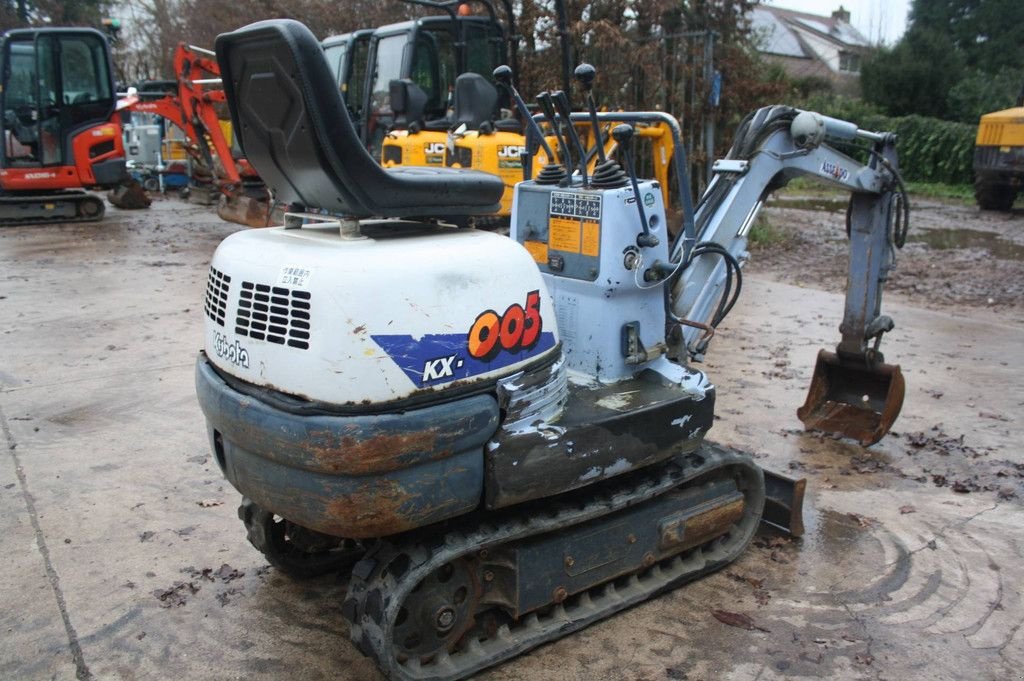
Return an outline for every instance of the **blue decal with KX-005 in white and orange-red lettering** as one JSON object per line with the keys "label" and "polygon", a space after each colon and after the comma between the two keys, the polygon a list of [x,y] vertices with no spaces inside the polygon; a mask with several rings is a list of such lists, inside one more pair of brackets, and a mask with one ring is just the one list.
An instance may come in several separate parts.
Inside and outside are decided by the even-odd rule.
{"label": "blue decal with KX-005 in white and orange-red lettering", "polygon": [[555,335],[544,331],[540,291],[530,291],[524,305],[513,303],[501,314],[480,312],[468,333],[371,338],[421,388],[497,371],[555,345]]}

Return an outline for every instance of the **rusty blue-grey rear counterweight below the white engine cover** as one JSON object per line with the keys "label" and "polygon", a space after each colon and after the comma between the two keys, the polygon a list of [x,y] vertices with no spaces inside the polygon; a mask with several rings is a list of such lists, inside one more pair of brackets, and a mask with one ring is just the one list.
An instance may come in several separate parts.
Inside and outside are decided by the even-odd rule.
{"label": "rusty blue-grey rear counterweight below the white engine cover", "polygon": [[479,506],[494,397],[381,416],[296,415],[230,388],[201,357],[197,393],[228,481],[336,537],[383,537]]}

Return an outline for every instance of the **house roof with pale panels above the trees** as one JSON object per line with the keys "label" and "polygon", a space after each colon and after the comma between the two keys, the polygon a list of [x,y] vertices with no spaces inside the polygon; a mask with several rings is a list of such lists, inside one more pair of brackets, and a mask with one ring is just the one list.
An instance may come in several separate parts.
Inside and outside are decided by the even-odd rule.
{"label": "house roof with pale panels above the trees", "polygon": [[870,47],[857,29],[836,16],[819,16],[781,7],[758,5],[751,10],[751,25],[759,36],[759,49],[768,54],[814,58],[801,33],[824,38],[839,47]]}

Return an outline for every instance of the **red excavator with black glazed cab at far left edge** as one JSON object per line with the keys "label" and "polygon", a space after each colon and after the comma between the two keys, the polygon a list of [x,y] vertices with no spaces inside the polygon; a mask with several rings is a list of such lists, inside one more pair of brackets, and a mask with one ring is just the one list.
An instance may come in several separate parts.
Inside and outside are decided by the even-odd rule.
{"label": "red excavator with black glazed cab at far left edge", "polygon": [[99,220],[87,188],[125,177],[106,38],[92,29],[18,29],[0,39],[0,224]]}

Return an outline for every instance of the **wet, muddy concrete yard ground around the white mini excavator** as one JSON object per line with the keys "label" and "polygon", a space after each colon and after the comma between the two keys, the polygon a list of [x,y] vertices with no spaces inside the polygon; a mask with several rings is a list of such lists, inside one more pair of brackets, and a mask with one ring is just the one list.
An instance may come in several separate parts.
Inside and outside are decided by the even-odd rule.
{"label": "wet, muddy concrete yard ground around the white mini excavator", "polygon": [[[902,252],[890,436],[862,448],[795,416],[839,339],[841,212],[768,209],[793,239],[755,251],[702,367],[710,437],[806,476],[807,535],[761,536],[729,568],[478,678],[1020,676],[1020,261],[991,249],[1021,244],[1024,215],[915,208],[912,237],[991,248]],[[348,643],[344,576],[269,567],[210,455],[193,366],[210,256],[238,228],[172,200],[0,228],[0,678],[380,678]]]}

